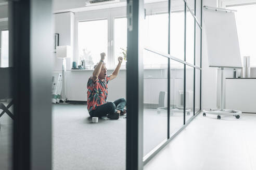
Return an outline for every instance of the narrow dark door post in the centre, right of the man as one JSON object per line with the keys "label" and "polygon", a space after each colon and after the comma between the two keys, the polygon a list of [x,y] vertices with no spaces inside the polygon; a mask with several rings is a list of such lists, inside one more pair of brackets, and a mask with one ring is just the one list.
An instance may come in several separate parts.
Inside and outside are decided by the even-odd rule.
{"label": "narrow dark door post in the centre, right of the man", "polygon": [[126,169],[143,169],[143,46],[144,0],[127,0]]}

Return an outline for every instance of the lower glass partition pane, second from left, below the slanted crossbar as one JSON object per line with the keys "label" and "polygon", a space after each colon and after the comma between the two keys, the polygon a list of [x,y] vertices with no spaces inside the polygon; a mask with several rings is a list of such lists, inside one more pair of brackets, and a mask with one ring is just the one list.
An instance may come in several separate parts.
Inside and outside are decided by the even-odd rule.
{"label": "lower glass partition pane, second from left, below the slanted crossbar", "polygon": [[184,64],[170,61],[170,136],[183,125]]}

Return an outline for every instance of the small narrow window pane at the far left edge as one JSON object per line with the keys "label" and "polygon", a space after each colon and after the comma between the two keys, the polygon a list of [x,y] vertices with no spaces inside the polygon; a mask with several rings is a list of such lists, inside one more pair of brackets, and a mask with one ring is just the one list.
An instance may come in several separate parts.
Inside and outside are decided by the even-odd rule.
{"label": "small narrow window pane at the far left edge", "polygon": [[1,31],[1,67],[9,66],[9,31]]}

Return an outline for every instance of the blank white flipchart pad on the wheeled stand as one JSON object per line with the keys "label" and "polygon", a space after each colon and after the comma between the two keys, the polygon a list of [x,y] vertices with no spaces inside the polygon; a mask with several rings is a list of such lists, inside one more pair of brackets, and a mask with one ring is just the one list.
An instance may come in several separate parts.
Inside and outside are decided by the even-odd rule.
{"label": "blank white flipchart pad on the wheeled stand", "polygon": [[204,29],[210,67],[241,67],[234,12],[204,9]]}

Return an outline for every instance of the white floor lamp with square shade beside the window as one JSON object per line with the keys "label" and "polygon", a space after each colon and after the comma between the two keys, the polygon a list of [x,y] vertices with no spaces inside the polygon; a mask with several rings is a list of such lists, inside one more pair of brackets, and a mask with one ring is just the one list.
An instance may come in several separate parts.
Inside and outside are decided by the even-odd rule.
{"label": "white floor lamp with square shade beside the window", "polygon": [[66,86],[65,86],[65,70],[66,70],[66,58],[71,57],[71,47],[70,46],[57,46],[56,47],[56,57],[62,59],[62,100],[66,103]]}

